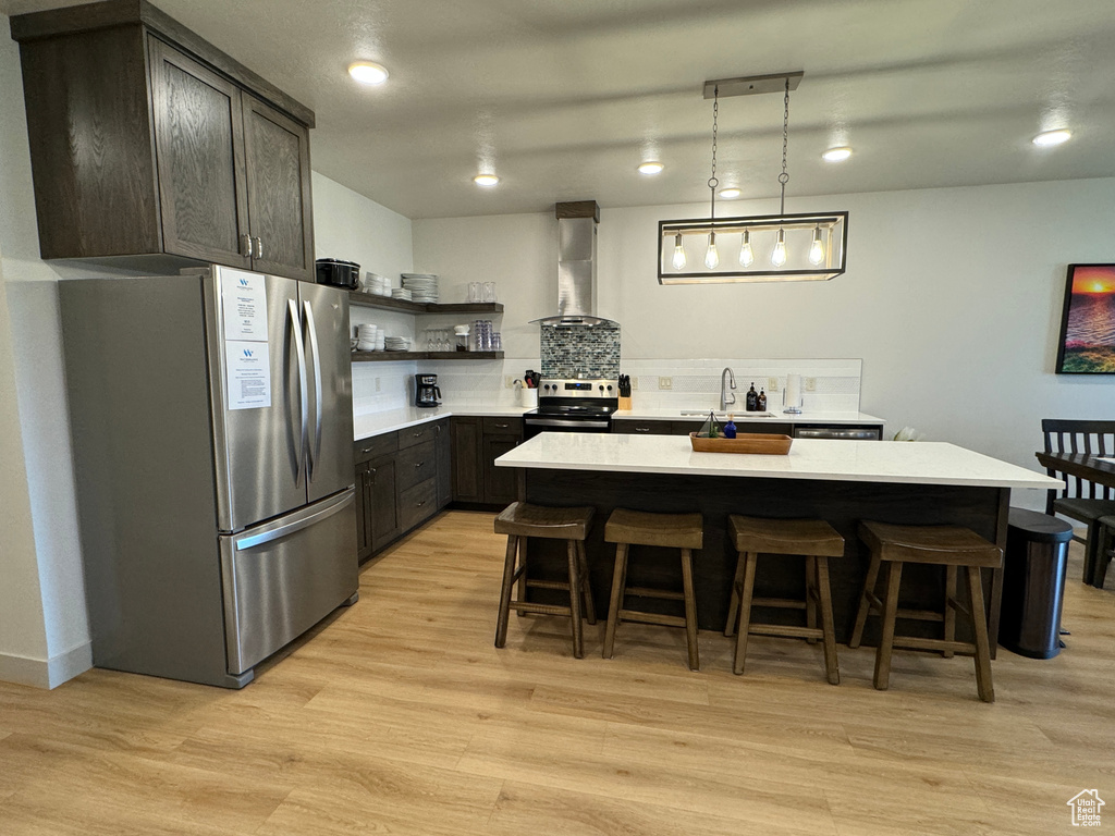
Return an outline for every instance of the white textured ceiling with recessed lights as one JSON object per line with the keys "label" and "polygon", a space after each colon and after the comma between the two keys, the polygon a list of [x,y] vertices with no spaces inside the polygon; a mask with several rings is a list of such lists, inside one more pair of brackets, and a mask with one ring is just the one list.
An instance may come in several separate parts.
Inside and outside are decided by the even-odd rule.
{"label": "white textured ceiling with recessed lights", "polygon": [[[1115,176],[1113,0],[155,2],[317,111],[317,171],[409,217],[707,200],[702,82],[789,70],[789,195]],[[780,132],[779,96],[723,100],[724,185],[777,194]]]}

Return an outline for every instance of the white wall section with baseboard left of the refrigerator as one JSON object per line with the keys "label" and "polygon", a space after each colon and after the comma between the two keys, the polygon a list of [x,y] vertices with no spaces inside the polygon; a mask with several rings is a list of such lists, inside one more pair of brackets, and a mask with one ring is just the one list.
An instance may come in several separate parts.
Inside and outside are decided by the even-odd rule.
{"label": "white wall section with baseboard left of the refrigerator", "polygon": [[[0,16],[0,30],[8,19]],[[38,259],[19,49],[0,38],[0,679],[54,687],[90,662],[58,324]],[[18,424],[16,424],[18,421]]]}

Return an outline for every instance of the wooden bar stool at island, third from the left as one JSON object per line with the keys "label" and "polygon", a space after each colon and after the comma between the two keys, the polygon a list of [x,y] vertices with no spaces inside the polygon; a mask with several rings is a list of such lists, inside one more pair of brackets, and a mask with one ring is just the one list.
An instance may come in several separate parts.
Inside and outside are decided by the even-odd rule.
{"label": "wooden bar stool at island, third from the left", "polygon": [[[731,585],[728,623],[724,628],[725,635],[737,633],[731,672],[744,672],[748,634],[806,639],[809,642],[821,639],[825,649],[828,681],[838,686],[840,668],[836,662],[833,602],[828,589],[828,558],[844,554],[844,538],[823,519],[760,519],[733,514],[728,517],[728,531],[739,553],[736,577]],[[754,597],[755,572],[760,553],[805,557],[804,601]],[[754,606],[805,610],[806,625],[757,624],[752,621]]]}

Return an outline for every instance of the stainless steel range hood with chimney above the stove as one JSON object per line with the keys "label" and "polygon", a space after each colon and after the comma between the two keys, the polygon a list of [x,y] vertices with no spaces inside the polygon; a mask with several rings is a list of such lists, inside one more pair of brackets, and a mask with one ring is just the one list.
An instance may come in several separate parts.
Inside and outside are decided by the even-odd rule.
{"label": "stainless steel range hood with chimney above the stove", "polygon": [[551,328],[618,325],[597,315],[597,224],[600,206],[595,201],[554,205],[558,216],[558,315],[531,320]]}

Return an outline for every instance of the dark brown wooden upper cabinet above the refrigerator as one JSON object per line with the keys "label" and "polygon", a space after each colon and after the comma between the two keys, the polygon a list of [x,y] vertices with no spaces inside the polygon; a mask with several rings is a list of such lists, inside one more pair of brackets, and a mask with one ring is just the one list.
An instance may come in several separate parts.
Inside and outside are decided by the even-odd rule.
{"label": "dark brown wooden upper cabinet above the refrigerator", "polygon": [[144,0],[21,14],[11,30],[43,259],[313,281],[311,110]]}

